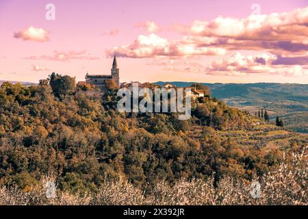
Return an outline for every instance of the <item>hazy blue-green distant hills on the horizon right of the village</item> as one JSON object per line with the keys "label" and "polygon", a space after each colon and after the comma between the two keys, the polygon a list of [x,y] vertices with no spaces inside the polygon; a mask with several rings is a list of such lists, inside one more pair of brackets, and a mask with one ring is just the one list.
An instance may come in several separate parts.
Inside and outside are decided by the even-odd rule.
{"label": "hazy blue-green distant hills on the horizon right of the village", "polygon": [[[168,81],[177,87],[188,87],[196,82]],[[156,82],[164,85],[164,81]],[[298,83],[203,83],[211,96],[229,105],[248,110],[251,114],[261,107],[270,118],[278,115],[294,131],[308,133],[308,84]]]}

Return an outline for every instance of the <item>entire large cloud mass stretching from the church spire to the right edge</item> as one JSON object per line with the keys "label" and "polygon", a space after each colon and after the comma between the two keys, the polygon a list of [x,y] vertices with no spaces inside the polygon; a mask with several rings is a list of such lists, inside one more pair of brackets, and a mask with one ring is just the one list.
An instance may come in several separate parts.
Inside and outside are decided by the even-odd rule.
{"label": "entire large cloud mass stretching from the church spire to the right edge", "polygon": [[[172,40],[154,34],[160,29],[154,22],[138,23],[136,27],[146,28],[151,34],[137,36],[130,44],[108,49],[106,54],[153,58],[152,64],[164,70],[186,73],[308,75],[308,7],[242,19],[218,16],[211,21],[177,25],[170,30],[183,36]],[[242,51],[259,51],[261,55],[242,55]],[[228,57],[203,66],[194,59],[201,55]]]}

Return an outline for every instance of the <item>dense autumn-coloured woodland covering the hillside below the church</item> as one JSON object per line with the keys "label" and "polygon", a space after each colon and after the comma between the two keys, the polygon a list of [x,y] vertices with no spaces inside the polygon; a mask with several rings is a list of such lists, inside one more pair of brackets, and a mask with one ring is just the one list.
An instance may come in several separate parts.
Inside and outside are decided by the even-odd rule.
{"label": "dense autumn-coloured woodland covering the hillside below the church", "polygon": [[[178,120],[175,114],[116,112],[112,81],[103,96],[73,83],[53,74],[38,86],[1,85],[0,185],[27,188],[53,176],[72,193],[97,192],[119,178],[142,190],[159,181],[207,177],[215,186],[222,177],[252,180],[281,164],[277,149],[243,149],[219,136],[254,124],[252,116],[209,93],[192,105],[190,120]],[[196,127],[201,137],[188,134]],[[303,145],[290,142],[287,153]]]}

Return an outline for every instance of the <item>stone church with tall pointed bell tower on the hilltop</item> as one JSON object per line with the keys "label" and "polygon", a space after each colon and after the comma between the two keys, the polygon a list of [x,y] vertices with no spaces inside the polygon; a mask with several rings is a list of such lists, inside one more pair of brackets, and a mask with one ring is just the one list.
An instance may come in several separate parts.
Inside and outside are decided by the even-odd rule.
{"label": "stone church with tall pointed bell tower on the hilltop", "polygon": [[91,85],[96,86],[97,88],[101,88],[105,90],[106,81],[110,79],[114,79],[116,84],[120,84],[120,76],[119,76],[119,68],[116,63],[116,55],[114,55],[114,62],[112,63],[111,75],[89,75],[86,74],[86,83],[90,83]]}

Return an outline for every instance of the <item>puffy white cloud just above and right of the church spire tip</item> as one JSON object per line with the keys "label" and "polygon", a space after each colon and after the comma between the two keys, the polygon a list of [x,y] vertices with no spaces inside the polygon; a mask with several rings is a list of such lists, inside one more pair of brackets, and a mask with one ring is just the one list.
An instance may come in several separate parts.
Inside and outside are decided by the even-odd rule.
{"label": "puffy white cloud just above and right of the church spire tip", "polygon": [[140,35],[131,44],[122,47],[114,47],[106,51],[107,55],[117,54],[121,57],[160,57],[170,58],[191,56],[191,55],[224,55],[225,49],[218,47],[198,47],[190,43],[188,38],[181,40],[168,41],[155,34],[149,36]]}

